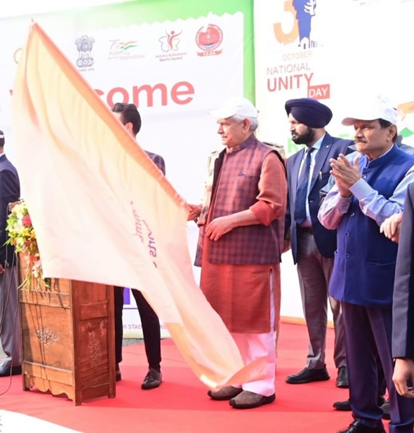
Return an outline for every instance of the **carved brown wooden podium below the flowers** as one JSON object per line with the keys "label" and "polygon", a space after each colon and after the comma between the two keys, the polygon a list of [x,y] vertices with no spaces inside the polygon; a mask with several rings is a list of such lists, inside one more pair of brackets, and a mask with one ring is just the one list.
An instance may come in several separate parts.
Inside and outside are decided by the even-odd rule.
{"label": "carved brown wooden podium below the flowers", "polygon": [[23,389],[64,393],[76,406],[114,398],[113,286],[52,279],[19,298]]}

